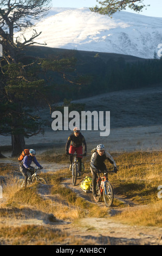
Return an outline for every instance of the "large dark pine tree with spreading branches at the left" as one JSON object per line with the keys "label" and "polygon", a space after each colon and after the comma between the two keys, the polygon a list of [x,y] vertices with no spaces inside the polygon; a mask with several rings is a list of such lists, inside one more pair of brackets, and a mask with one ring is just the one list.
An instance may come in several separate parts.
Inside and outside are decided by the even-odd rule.
{"label": "large dark pine tree with spreading branches at the left", "polygon": [[64,72],[75,64],[74,59],[47,61],[26,54],[41,34],[35,29],[29,39],[23,36],[23,41],[14,40],[15,32],[33,26],[31,21],[40,19],[49,9],[49,0],[0,0],[0,134],[11,135],[12,156],[25,148],[24,137],[43,133],[43,120],[35,113],[45,103],[50,107],[53,94],[52,85],[40,73],[54,70],[68,80]]}

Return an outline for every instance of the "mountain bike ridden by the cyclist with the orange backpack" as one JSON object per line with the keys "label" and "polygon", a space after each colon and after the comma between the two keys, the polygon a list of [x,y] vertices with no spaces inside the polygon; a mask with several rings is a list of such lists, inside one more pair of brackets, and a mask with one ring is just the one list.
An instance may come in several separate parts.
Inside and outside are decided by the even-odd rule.
{"label": "mountain bike ridden by the cyclist with the orange backpack", "polygon": [[[40,170],[40,168],[34,168],[32,171],[34,171],[34,174],[31,175],[28,177],[28,180],[27,180],[27,185],[31,185],[33,184],[34,182],[38,182],[39,184],[47,184],[46,180],[44,180],[43,178],[40,178],[40,176],[37,174],[37,170]],[[30,171],[29,171],[30,173]],[[24,179],[20,179],[18,180],[17,182],[18,186],[20,186],[21,188],[22,187],[25,187],[25,181]]]}

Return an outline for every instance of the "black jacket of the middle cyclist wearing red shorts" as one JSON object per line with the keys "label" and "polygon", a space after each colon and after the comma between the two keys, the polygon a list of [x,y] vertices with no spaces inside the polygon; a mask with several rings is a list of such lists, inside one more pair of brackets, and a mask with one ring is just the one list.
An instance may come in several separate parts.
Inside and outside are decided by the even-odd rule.
{"label": "black jacket of the middle cyclist wearing red shorts", "polygon": [[73,132],[72,134],[70,134],[70,136],[67,139],[66,147],[65,147],[66,153],[68,153],[69,145],[72,145],[73,147],[78,148],[82,146],[82,144],[83,144],[83,150],[84,150],[83,152],[87,152],[87,144],[85,141],[85,137],[81,134],[81,132],[79,133],[79,136],[76,137]]}

